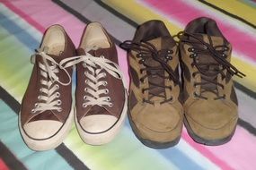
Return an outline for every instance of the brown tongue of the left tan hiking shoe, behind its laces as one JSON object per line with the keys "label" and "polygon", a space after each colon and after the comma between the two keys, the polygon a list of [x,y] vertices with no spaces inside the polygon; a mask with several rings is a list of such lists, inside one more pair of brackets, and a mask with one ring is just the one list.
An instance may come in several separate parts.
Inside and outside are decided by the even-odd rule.
{"label": "brown tongue of the left tan hiking shoe, behind its laces", "polygon": [[[160,51],[162,49],[170,49],[175,46],[175,41],[172,39],[172,37],[159,37],[159,38],[154,38],[154,39],[148,40],[147,42],[152,44],[156,48],[157,51]],[[160,57],[160,56],[157,55],[157,57]],[[148,55],[148,57],[145,60],[145,64],[149,65],[150,67],[161,66],[161,64],[159,62],[155,61],[151,55]],[[149,75],[148,81],[150,81],[154,84],[159,84],[160,86],[164,86],[164,79],[162,77],[160,77],[158,75],[151,75],[152,73],[154,74],[155,72],[157,72],[158,75],[164,76],[164,70],[162,70],[162,71],[152,70],[151,72],[147,72],[147,75]],[[151,84],[149,84],[149,88],[152,88],[152,87],[153,86]],[[149,92],[153,93],[153,94],[159,94],[159,95],[164,96],[165,89],[161,88],[161,87],[154,87],[154,89],[149,89]],[[159,101],[159,100],[162,101],[163,98],[159,98],[159,97],[155,96],[154,98],[151,98],[150,100],[151,101]]]}

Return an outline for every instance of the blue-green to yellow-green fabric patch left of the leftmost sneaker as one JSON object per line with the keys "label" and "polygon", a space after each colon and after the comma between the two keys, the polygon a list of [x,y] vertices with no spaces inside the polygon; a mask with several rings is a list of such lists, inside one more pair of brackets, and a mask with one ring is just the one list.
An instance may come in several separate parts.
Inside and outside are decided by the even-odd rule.
{"label": "blue-green to yellow-green fabric patch left of the leftmost sneaker", "polygon": [[[31,50],[0,26],[0,81],[4,89],[22,99],[32,70]],[[4,39],[4,40],[3,40]]]}

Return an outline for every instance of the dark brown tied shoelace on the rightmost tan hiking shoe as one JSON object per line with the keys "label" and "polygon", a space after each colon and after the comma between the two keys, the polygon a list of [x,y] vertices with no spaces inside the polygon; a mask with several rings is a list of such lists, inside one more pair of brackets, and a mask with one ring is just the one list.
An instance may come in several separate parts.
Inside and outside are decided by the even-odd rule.
{"label": "dark brown tied shoelace on the rightmost tan hiking shoe", "polygon": [[[243,78],[245,76],[243,72],[238,71],[234,65],[230,64],[227,60],[225,55],[225,51],[229,50],[229,47],[225,45],[221,46],[213,46],[213,42],[210,36],[207,35],[209,40],[209,44],[204,42],[202,39],[194,36],[185,31],[181,31],[177,34],[177,37],[183,43],[187,43],[193,45],[188,50],[191,52],[190,58],[193,59],[191,66],[196,66],[198,72],[193,72],[192,76],[195,77],[196,74],[201,74],[201,80],[204,82],[195,82],[194,86],[200,86],[201,92],[200,94],[194,93],[195,97],[207,99],[207,97],[202,96],[203,93],[209,91],[216,94],[215,99],[225,98],[225,94],[223,96],[219,96],[217,86],[224,89],[224,85],[217,82],[218,74],[221,74],[222,80],[225,79],[226,73],[233,75],[237,75],[238,77]],[[193,38],[192,40],[190,38]],[[199,45],[199,46],[197,46]],[[199,55],[210,55],[216,63],[202,63],[198,61]],[[213,86],[211,86],[213,85]]]}

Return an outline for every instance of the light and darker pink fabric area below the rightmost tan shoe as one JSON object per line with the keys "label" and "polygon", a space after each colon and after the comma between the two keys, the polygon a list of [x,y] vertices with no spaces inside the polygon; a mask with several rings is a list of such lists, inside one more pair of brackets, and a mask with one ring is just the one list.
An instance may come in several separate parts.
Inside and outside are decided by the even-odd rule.
{"label": "light and darker pink fabric area below the rightmost tan shoe", "polygon": [[182,132],[182,138],[222,169],[251,169],[256,166],[256,138],[240,126],[237,126],[233,139],[221,146],[198,144],[190,138],[187,131]]}

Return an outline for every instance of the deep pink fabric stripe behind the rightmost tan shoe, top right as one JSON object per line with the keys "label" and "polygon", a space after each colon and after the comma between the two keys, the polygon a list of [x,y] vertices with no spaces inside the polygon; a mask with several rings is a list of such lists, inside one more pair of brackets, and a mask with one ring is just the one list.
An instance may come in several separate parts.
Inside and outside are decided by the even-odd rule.
{"label": "deep pink fabric stripe behind the rightmost tan shoe, top right", "polygon": [[247,55],[256,61],[256,38],[252,38],[249,34],[246,34],[244,30],[239,30],[238,28],[228,24],[228,21],[217,18],[214,13],[207,13],[203,10],[196,9],[181,0],[143,1],[164,13],[171,19],[181,22],[184,27],[189,23],[189,21],[201,16],[213,18],[216,20],[220,30],[225,35],[225,38],[227,38],[233,45],[234,51],[237,52],[237,54]]}

